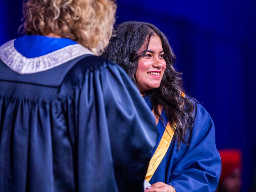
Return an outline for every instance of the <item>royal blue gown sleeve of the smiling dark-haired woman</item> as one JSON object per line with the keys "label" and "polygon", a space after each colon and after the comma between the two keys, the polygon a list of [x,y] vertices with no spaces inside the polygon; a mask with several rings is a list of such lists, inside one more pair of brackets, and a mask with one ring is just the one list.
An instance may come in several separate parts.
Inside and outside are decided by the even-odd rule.
{"label": "royal blue gown sleeve of the smiling dark-haired woman", "polygon": [[[177,154],[175,151],[173,159]],[[220,172],[221,161],[215,144],[214,123],[208,112],[198,104],[189,146],[177,161],[168,184],[174,186],[177,192],[214,192]]]}

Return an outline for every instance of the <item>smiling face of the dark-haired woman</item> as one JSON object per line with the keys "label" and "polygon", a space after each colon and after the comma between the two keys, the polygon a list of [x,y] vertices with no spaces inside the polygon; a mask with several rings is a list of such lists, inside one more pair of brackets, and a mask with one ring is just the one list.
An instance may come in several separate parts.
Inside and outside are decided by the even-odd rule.
{"label": "smiling face of the dark-haired woman", "polygon": [[[142,45],[139,53],[145,51],[147,41]],[[159,36],[154,35],[150,38],[148,50],[143,57],[138,60],[136,79],[139,84],[140,93],[155,89],[160,86],[161,80],[166,69],[164,51]]]}

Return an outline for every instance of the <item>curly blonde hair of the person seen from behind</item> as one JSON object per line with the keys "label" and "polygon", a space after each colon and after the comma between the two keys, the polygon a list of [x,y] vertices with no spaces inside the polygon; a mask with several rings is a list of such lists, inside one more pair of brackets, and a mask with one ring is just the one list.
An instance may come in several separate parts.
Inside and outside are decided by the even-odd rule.
{"label": "curly blonde hair of the person seen from behind", "polygon": [[27,0],[20,29],[70,38],[101,55],[112,36],[116,8],[115,0]]}

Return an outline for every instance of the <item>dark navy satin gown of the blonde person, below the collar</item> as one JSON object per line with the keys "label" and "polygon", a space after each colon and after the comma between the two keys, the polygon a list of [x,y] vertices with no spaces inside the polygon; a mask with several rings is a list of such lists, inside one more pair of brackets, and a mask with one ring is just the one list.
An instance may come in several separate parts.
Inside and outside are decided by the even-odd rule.
{"label": "dark navy satin gown of the blonde person, below the collar", "polygon": [[143,191],[154,117],[96,56],[20,75],[0,60],[0,191]]}

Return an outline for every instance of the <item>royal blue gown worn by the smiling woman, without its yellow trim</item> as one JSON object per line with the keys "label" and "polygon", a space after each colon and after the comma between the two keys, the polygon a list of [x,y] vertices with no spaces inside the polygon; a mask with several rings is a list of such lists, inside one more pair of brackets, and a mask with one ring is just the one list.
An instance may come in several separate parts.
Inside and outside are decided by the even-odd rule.
{"label": "royal blue gown worn by the smiling woman, without its yellow trim", "polygon": [[[145,97],[149,107],[153,109],[149,96]],[[215,144],[215,128],[211,116],[205,108],[195,104],[195,122],[192,134],[187,133],[185,139],[189,145],[181,143],[178,148],[173,138],[170,146],[159,164],[150,183],[164,182],[172,185],[176,192],[214,192],[221,173],[221,160]],[[159,120],[157,128],[159,136],[156,148],[165,131],[168,118],[164,109],[161,112],[164,123]]]}

